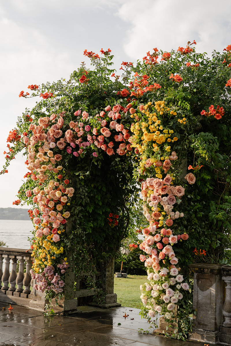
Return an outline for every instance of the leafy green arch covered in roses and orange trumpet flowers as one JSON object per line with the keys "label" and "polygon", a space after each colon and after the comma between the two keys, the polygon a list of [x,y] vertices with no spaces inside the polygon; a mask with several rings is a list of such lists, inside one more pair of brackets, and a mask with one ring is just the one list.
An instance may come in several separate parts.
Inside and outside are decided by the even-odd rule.
{"label": "leafy green arch covered in roses and orange trumpet flowers", "polygon": [[68,254],[76,273],[99,273],[125,238],[137,242],[136,220],[143,316],[177,319],[176,337],[190,329],[187,264],[230,257],[231,47],[208,59],[193,44],[154,48],[135,67],[123,62],[121,76],[110,49],[86,50],[94,69],[29,85],[19,97],[41,99],[10,131],[1,171],[25,149],[13,204],[33,205],[35,289],[62,297]]}

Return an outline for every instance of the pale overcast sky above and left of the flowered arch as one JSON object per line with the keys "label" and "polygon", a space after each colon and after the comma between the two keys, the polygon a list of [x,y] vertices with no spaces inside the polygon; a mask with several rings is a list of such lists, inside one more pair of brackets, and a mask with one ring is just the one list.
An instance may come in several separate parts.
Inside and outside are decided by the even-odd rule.
{"label": "pale overcast sky above and left of the flowered arch", "polygon": [[[9,130],[35,103],[18,97],[29,84],[68,78],[86,60],[85,49],[112,49],[117,69],[154,47],[170,51],[194,39],[198,52],[221,52],[231,44],[230,13],[230,0],[1,1],[0,165]],[[13,161],[0,176],[0,207],[12,207],[27,172],[25,157]]]}

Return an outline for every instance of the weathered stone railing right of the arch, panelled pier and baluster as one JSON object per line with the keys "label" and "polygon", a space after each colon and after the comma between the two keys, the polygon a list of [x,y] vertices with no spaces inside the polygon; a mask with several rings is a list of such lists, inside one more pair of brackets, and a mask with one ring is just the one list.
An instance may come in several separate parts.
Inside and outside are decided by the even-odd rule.
{"label": "weathered stone railing right of the arch, panelled pier and baluster", "polygon": [[191,264],[193,333],[190,339],[231,345],[231,266]]}

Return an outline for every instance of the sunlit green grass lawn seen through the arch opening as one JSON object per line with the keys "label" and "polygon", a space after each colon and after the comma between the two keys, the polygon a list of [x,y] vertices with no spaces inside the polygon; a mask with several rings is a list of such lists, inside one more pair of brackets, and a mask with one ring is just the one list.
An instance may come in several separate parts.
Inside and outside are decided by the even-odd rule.
{"label": "sunlit green grass lawn seen through the arch opening", "polygon": [[142,305],[140,285],[146,281],[147,276],[114,277],[114,293],[117,294],[117,302],[121,303],[122,306],[140,309]]}

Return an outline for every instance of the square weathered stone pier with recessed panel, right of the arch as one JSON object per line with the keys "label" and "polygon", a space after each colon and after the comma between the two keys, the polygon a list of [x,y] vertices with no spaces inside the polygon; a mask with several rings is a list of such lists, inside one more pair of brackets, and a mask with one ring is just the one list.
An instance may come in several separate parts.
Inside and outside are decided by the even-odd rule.
{"label": "square weathered stone pier with recessed panel, right of the arch", "polygon": [[224,282],[222,265],[191,264],[193,284],[193,332],[189,339],[216,343],[223,321]]}

